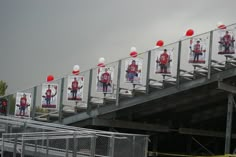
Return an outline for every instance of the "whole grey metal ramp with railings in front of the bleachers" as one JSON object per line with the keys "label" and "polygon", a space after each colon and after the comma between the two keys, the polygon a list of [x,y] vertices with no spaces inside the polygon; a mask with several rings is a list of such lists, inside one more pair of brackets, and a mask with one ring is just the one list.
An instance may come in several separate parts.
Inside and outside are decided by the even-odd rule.
{"label": "whole grey metal ramp with railings in front of the bleachers", "polygon": [[145,157],[148,136],[0,116],[0,149],[11,156]]}

